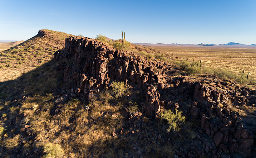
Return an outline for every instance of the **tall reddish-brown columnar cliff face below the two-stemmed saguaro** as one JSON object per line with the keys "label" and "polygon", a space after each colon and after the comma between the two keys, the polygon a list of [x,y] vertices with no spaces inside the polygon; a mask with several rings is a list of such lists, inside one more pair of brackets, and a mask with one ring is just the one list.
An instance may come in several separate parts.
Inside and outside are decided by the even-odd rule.
{"label": "tall reddish-brown columnar cliff face below the two-stemmed saguaro", "polygon": [[[163,73],[155,72],[158,62],[146,62],[141,58],[127,55],[128,52],[115,50],[90,38],[69,37],[65,48],[54,54],[56,61],[65,60],[61,66],[64,82],[72,89],[80,89],[75,95],[86,98],[93,93],[108,89],[113,81],[145,89],[145,105],[142,113],[155,117],[160,112],[158,85],[163,89]],[[164,65],[164,64],[161,64]]]}

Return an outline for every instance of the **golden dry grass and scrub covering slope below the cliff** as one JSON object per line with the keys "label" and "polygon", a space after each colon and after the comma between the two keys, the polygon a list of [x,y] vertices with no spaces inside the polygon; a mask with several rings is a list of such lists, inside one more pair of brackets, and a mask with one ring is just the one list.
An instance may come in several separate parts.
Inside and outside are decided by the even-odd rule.
{"label": "golden dry grass and scrub covering slope below the cliff", "polygon": [[[20,107],[10,101],[4,103],[4,110],[1,109],[1,112],[8,115],[4,118],[5,123],[20,122],[22,127],[28,125],[28,130],[35,137],[31,141],[23,134],[18,135],[22,127],[15,126],[14,123],[6,128],[6,137],[2,137],[0,152],[18,150],[24,151],[22,156],[28,153],[27,156],[31,157],[38,156],[34,151],[42,151],[42,157],[115,157],[126,153],[136,156],[136,143],[140,155],[150,155],[150,150],[154,149],[155,156],[172,156],[175,148],[151,134],[154,128],[158,132],[157,136],[161,134],[164,137],[167,134],[165,129],[157,125],[154,119],[151,120],[139,112],[142,102],[139,100],[140,93],[128,93],[129,88],[124,83],[114,83],[116,86],[95,94],[89,103],[73,98],[66,101],[66,98],[53,96],[51,93],[29,96],[18,102]],[[61,103],[63,100],[65,103]],[[138,130],[136,125],[140,124],[140,120],[131,123],[135,127],[126,128],[126,108],[131,115],[142,117],[145,130]],[[148,145],[145,146],[145,143]]]}

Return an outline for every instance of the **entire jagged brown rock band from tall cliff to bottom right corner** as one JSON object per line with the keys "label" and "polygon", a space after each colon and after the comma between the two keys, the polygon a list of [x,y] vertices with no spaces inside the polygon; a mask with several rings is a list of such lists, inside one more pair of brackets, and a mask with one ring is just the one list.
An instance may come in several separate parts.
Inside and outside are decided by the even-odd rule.
{"label": "entire jagged brown rock band from tall cliff to bottom right corner", "polygon": [[[60,69],[64,82],[70,86],[54,92],[55,95],[68,91],[69,96],[90,100],[98,91],[110,88],[112,81],[123,81],[143,91],[145,102],[140,109],[143,115],[157,119],[161,109],[179,108],[186,117],[199,119],[203,131],[199,131],[190,149],[180,148],[178,156],[203,157],[204,153],[213,157],[230,157],[233,153],[249,156],[255,135],[239,122],[238,113],[230,111],[228,102],[252,106],[254,91],[229,80],[213,81],[207,76],[203,81],[172,77],[175,70],[171,65],[147,62],[128,54],[94,39],[67,38],[65,48],[57,51],[54,59],[65,61]],[[191,108],[186,106],[189,103]],[[212,141],[203,138],[204,135]]]}

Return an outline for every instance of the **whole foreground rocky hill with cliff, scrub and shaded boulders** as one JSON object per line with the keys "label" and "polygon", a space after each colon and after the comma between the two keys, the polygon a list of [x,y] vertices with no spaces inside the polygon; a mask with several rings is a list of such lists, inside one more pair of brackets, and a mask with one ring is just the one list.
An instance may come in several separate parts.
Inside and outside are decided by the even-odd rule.
{"label": "whole foreground rocky hill with cliff, scrub and shaded boulders", "polygon": [[148,58],[91,38],[66,38],[54,63],[16,80],[36,80],[38,91],[58,83],[45,91],[51,94],[3,88],[2,155],[254,157],[255,89],[214,74],[188,76]]}

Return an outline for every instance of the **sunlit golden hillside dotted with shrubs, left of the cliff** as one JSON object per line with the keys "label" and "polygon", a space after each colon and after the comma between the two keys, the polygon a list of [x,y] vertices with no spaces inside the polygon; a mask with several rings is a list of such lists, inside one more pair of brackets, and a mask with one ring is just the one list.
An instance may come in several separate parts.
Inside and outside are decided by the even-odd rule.
{"label": "sunlit golden hillside dotted with shrubs, left of the cliff", "polygon": [[63,32],[40,30],[38,34],[8,50],[0,52],[0,82],[15,79],[52,59],[55,51],[64,48]]}

